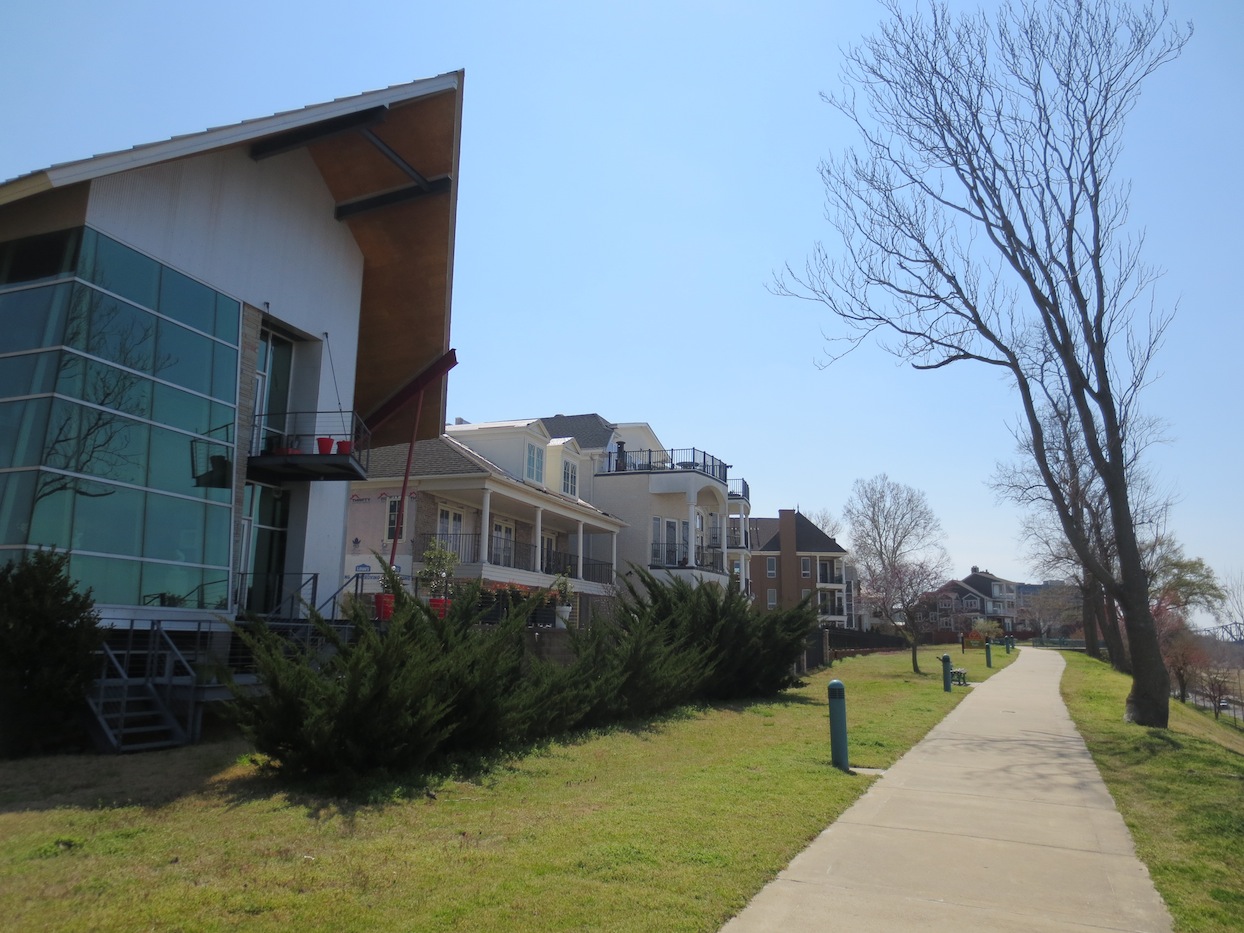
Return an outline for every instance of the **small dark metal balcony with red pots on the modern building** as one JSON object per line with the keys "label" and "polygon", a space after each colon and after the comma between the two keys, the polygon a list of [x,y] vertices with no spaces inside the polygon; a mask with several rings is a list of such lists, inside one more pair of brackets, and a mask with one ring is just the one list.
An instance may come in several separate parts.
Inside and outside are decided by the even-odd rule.
{"label": "small dark metal balcony with red pots on the modern building", "polygon": [[255,424],[248,473],[266,479],[367,479],[372,435],[355,412],[284,412]]}

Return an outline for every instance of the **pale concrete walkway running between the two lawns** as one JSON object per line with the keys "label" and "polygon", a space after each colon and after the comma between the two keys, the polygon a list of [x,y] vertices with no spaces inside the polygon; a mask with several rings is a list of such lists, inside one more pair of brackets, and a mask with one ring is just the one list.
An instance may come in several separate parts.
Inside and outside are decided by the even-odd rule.
{"label": "pale concrete walkway running between the two lawns", "polygon": [[973,687],[723,933],[1168,932],[1059,697],[1062,667],[1024,648]]}

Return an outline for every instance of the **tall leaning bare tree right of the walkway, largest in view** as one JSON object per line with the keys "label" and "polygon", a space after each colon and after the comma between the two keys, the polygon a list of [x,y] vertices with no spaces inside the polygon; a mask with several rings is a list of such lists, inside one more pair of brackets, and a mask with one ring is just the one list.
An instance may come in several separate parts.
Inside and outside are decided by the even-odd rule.
{"label": "tall leaning bare tree right of the walkway, largest in view", "polygon": [[[822,302],[847,352],[870,336],[916,368],[975,361],[1009,376],[1064,534],[1122,612],[1126,718],[1166,726],[1169,675],[1148,608],[1128,493],[1128,432],[1168,316],[1137,313],[1154,271],[1128,236],[1112,174],[1141,83],[1189,31],[1164,7],[1019,0],[993,20],[928,19],[889,0],[878,36],[847,52],[829,98],[862,148],[822,164],[845,258],[817,246],[782,294]],[[1059,486],[1042,409],[1066,399],[1108,505],[1117,572]],[[1057,449],[1057,445],[1052,445]]]}

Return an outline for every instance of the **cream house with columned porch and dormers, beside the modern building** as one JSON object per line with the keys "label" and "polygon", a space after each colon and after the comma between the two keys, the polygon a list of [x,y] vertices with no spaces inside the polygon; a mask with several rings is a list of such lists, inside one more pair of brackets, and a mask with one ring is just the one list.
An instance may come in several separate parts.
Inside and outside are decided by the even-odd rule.
{"label": "cream house with columned porch and dormers, beside the modern building", "polygon": [[409,444],[377,448],[368,478],[351,484],[345,572],[358,575],[358,590],[379,588],[377,554],[396,557],[398,573],[417,573],[438,541],[457,556],[457,578],[547,588],[566,576],[573,621],[591,616],[593,597],[612,595],[626,522],[578,496],[573,438],[550,438],[530,420],[420,440],[403,500],[408,453]]}

